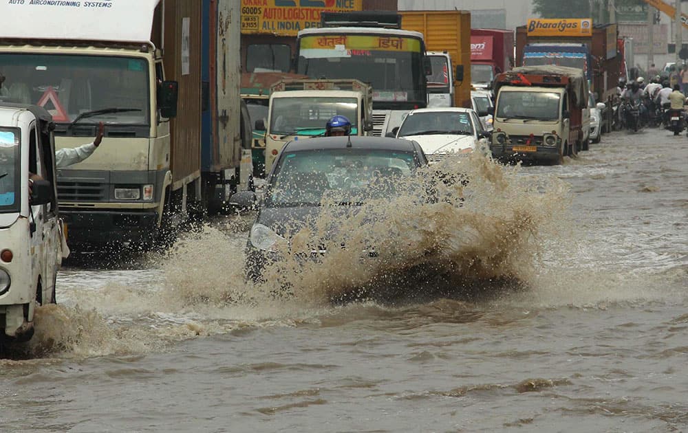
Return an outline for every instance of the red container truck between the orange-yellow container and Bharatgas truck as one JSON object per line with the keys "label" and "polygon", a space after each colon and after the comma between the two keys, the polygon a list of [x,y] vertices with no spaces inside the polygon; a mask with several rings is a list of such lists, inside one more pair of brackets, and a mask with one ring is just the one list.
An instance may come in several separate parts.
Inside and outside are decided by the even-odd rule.
{"label": "red container truck between the orange-yellow container and Bharatgas truck", "polygon": [[497,74],[514,65],[514,32],[501,29],[471,29],[471,82],[487,88]]}

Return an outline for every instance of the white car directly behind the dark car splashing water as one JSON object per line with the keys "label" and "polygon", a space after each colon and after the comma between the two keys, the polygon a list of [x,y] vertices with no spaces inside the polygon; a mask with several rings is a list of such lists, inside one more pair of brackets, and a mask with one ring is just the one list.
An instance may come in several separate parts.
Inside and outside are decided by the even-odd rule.
{"label": "white car directly behind the dark car splashing water", "polygon": [[418,142],[432,164],[450,155],[473,152],[488,132],[475,110],[443,107],[409,111],[396,137]]}

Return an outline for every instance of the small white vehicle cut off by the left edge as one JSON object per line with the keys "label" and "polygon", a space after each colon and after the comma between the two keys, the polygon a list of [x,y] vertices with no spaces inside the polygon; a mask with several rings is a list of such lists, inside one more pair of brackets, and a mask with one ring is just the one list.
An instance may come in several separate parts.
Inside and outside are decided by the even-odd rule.
{"label": "small white vehicle cut off by the left edge", "polygon": [[[69,255],[57,206],[52,116],[0,102],[0,342],[30,340]],[[31,180],[30,180],[31,179]]]}

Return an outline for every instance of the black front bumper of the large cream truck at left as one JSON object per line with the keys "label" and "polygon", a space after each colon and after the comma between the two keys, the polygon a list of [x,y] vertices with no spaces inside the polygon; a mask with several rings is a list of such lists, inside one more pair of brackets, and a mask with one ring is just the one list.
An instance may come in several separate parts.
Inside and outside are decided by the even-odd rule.
{"label": "black front bumper of the large cream truck at left", "polygon": [[158,211],[73,210],[61,208],[67,244],[151,243],[158,234]]}

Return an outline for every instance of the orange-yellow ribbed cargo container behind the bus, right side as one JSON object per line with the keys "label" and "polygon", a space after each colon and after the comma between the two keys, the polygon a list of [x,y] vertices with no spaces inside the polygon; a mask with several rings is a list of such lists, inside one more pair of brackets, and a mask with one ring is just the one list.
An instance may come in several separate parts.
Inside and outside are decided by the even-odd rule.
{"label": "orange-yellow ribbed cargo container behind the bus, right side", "polygon": [[[422,33],[425,47],[431,52],[436,52],[435,56],[431,56],[432,75],[442,74],[442,69],[446,69],[447,74],[453,76],[451,78],[454,79],[449,80],[453,88],[453,91],[449,91],[453,93],[451,106],[470,108],[471,13],[465,10],[405,10],[399,14],[402,16],[401,28]],[[449,54],[451,64],[437,64],[437,60],[434,59],[441,58],[441,53]],[[444,58],[447,62],[446,56]],[[429,78],[428,82],[438,80]],[[433,93],[441,92],[441,89],[442,87],[429,84],[429,101],[433,99]]]}

